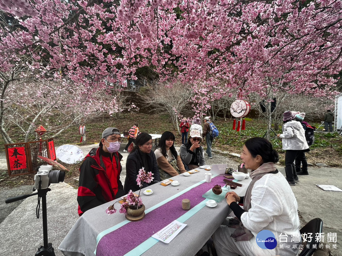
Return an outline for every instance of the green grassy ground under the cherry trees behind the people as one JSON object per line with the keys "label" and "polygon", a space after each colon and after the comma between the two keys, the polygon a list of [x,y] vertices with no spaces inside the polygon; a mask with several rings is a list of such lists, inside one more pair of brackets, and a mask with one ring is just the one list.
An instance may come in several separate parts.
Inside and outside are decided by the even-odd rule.
{"label": "green grassy ground under the cherry trees behind the people", "polygon": [[[233,119],[225,121],[223,118],[216,117],[215,126],[218,128],[220,135],[214,140],[213,147],[221,151],[240,153],[244,142],[252,137],[263,137],[266,132],[266,122],[264,120],[245,118],[246,130],[237,132],[233,130]],[[101,139],[102,131],[107,127],[116,127],[121,132],[128,130],[134,123],[139,123],[142,132],[158,133],[171,131],[175,134],[176,145],[181,145],[181,135],[177,134],[177,130],[173,127],[170,117],[167,114],[144,114],[144,113],[120,113],[118,118],[109,115],[99,115],[96,119],[85,123],[87,144],[98,143]],[[315,125],[315,124],[313,124]],[[275,131],[281,133],[281,130]],[[24,136],[18,129],[12,129],[10,136],[15,142],[22,142]],[[43,137],[47,139],[48,137]],[[64,130],[60,135],[54,138],[55,145],[79,143],[81,136],[78,133],[78,125]],[[4,149],[3,141],[0,138],[0,149]],[[278,151],[280,162],[284,159],[284,151],[282,151],[281,140],[271,133],[270,139],[275,150]],[[2,143],[1,143],[2,142]],[[205,145],[203,145],[205,146]],[[313,161],[326,161],[331,166],[342,166],[342,137],[338,133],[315,133],[315,143],[310,147]],[[329,152],[329,153],[327,153]],[[310,154],[307,154],[310,156]],[[327,159],[327,155],[331,155],[331,159]],[[317,158],[317,159],[316,159]]]}

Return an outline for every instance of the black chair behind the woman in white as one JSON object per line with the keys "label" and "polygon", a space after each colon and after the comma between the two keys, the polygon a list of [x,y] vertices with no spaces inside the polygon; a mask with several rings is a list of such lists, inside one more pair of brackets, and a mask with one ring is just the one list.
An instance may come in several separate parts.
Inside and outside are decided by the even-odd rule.
{"label": "black chair behind the woman in white", "polygon": [[312,233],[311,242],[307,242],[309,248],[304,247],[304,250],[299,254],[299,256],[311,256],[316,251],[316,248],[313,248],[313,245],[316,244],[318,247],[319,242],[316,242],[315,237],[316,233],[322,233],[323,229],[323,221],[320,218],[315,218],[309,221],[304,227],[300,229],[300,233]]}

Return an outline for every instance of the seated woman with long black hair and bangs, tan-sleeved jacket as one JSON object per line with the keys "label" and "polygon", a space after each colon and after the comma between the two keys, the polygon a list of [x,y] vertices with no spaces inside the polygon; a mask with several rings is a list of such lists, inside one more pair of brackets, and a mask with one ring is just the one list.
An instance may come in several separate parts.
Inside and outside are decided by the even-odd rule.
{"label": "seated woman with long black hair and bangs, tan-sleeved jacket", "polygon": [[177,151],[174,148],[174,139],[175,137],[172,132],[164,132],[161,135],[157,149],[154,151],[159,166],[161,180],[169,179],[186,172],[181,157],[178,156]]}

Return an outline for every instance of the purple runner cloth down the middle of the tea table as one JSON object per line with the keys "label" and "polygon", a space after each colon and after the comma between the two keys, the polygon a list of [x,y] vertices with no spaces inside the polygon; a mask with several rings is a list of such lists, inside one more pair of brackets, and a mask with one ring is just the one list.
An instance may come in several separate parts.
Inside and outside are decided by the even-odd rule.
{"label": "purple runner cloth down the middle of the tea table", "polygon": [[187,211],[182,209],[183,199],[189,199],[191,208],[193,208],[201,201],[205,200],[202,195],[216,184],[221,186],[225,185],[222,175],[213,177],[210,183],[202,183],[179,197],[161,205],[147,213],[141,221],[129,222],[106,234],[97,244],[96,255],[125,255],[147,240],[154,233],[186,213]]}

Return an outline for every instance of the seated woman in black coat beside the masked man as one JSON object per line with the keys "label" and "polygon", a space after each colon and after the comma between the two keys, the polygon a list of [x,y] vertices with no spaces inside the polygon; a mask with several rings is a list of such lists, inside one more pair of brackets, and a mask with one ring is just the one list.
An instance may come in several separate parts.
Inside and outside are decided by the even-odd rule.
{"label": "seated woman in black coat beside the masked man", "polygon": [[139,174],[139,170],[143,167],[145,171],[152,172],[154,178],[151,183],[143,183],[143,187],[160,181],[156,156],[152,151],[152,136],[146,132],[142,132],[136,137],[135,143],[136,146],[126,160],[126,179],[123,186],[125,193],[128,193],[130,189],[132,191],[140,189],[136,182],[136,175]]}

